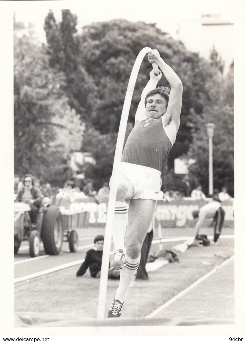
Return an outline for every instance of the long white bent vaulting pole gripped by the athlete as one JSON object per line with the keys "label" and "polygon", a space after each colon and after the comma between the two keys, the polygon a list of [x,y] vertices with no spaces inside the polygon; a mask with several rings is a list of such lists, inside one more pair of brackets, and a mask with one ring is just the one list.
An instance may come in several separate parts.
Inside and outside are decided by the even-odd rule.
{"label": "long white bent vaulting pole gripped by the athlete", "polygon": [[[111,176],[111,181],[110,181],[110,192],[109,192],[107,219],[106,219],[105,236],[104,236],[104,248],[103,248],[103,253],[102,253],[102,266],[101,266],[98,307],[97,307],[98,319],[104,319],[104,316],[105,316],[109,254],[110,254],[110,248],[111,248],[113,216],[114,216],[114,207],[115,207],[117,185],[118,185],[117,177],[118,177],[119,170],[120,170],[120,163],[121,163],[121,156],[123,152],[127,120],[128,120],[133,91],[134,91],[140,65],[142,63],[143,57],[147,53],[151,53],[151,52],[152,50],[150,48],[143,48],[139,52],[136,58],[136,61],[133,65],[131,76],[129,78],[125,100],[123,104],[123,109],[122,109],[122,114],[121,114],[119,133],[118,133],[115,154],[114,154],[113,170],[112,170],[112,176]],[[154,74],[159,75],[158,66],[155,63],[153,63],[152,66],[153,66]]]}

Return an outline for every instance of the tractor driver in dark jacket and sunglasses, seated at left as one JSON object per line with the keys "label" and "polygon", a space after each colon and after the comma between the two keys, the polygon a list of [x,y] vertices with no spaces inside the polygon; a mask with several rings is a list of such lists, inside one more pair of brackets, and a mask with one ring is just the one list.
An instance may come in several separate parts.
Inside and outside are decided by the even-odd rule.
{"label": "tractor driver in dark jacket and sunglasses, seated at left", "polygon": [[41,190],[34,186],[33,176],[30,173],[25,174],[23,187],[19,189],[15,202],[24,202],[30,205],[30,219],[33,224],[37,223],[37,211],[42,206],[42,199]]}

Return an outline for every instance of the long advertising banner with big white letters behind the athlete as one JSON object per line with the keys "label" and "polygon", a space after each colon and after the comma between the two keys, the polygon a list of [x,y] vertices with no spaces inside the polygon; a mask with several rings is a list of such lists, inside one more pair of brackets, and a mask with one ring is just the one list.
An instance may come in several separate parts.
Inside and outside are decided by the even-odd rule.
{"label": "long advertising banner with big white letters behind the athlete", "polygon": [[[196,220],[192,212],[203,207],[210,199],[192,200],[184,198],[171,202],[159,200],[156,203],[154,218],[155,224],[162,227],[193,227]],[[83,228],[90,226],[105,226],[107,218],[107,204],[97,204],[93,197],[56,199],[55,205],[60,207],[63,213],[64,224],[72,227]],[[222,208],[225,211],[224,227],[234,227],[232,201],[224,201]],[[70,221],[69,221],[70,220]],[[207,226],[213,224],[212,219],[207,220]]]}

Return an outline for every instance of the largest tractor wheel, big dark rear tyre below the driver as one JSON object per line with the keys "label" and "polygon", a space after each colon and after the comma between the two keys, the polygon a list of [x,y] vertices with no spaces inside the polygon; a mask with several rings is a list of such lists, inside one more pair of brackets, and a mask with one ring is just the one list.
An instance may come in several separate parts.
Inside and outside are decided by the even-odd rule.
{"label": "largest tractor wheel, big dark rear tyre below the driver", "polygon": [[63,226],[58,207],[49,207],[44,212],[41,238],[46,254],[56,255],[60,253],[63,244]]}

